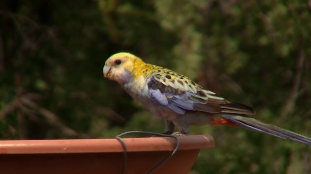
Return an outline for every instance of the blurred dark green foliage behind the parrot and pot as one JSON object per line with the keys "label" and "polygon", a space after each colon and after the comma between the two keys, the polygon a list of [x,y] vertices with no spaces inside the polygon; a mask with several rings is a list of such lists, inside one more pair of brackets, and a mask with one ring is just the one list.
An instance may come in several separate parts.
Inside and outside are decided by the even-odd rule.
{"label": "blurred dark green foliage behind the parrot and pot", "polygon": [[[309,5],[309,6],[308,6]],[[187,75],[256,118],[311,136],[311,11],[296,1],[0,2],[0,139],[164,131],[104,61],[128,51]],[[211,134],[192,173],[310,173],[305,145],[235,127]]]}

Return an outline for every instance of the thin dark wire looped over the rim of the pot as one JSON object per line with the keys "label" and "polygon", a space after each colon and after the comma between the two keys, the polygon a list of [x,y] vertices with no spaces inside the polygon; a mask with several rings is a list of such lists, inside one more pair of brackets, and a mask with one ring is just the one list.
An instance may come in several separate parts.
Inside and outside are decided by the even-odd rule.
{"label": "thin dark wire looped over the rim of the pot", "polygon": [[121,145],[122,145],[122,147],[124,149],[122,174],[125,174],[125,169],[126,169],[126,159],[127,159],[126,152],[127,152],[127,148],[126,148],[125,142],[123,141],[121,136],[130,134],[130,133],[145,133],[145,134],[162,136],[162,137],[172,137],[172,138],[176,139],[176,147],[173,150],[172,154],[170,156],[166,157],[161,162],[159,162],[150,172],[148,172],[148,174],[152,174],[153,172],[155,172],[156,169],[158,169],[162,164],[164,164],[167,160],[169,160],[171,157],[173,157],[173,155],[176,153],[176,151],[177,151],[177,149],[179,147],[179,140],[178,140],[178,138],[175,135],[167,135],[167,134],[155,133],[155,132],[149,132],[149,131],[127,131],[127,132],[121,133],[120,135],[116,136],[116,139],[120,141],[120,143],[121,143]]}

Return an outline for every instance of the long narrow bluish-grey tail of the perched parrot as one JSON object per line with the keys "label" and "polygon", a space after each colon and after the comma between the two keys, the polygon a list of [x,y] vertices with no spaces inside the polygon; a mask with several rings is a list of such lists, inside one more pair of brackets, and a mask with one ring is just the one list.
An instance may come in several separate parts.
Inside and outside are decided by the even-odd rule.
{"label": "long narrow bluish-grey tail of the perched parrot", "polygon": [[260,131],[279,138],[289,139],[295,142],[311,145],[311,138],[309,137],[300,135],[292,131],[287,131],[285,129],[276,127],[268,123],[264,123],[255,118],[231,114],[224,114],[222,117],[250,130]]}

